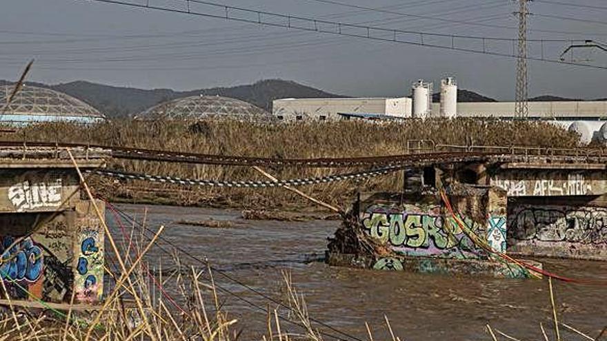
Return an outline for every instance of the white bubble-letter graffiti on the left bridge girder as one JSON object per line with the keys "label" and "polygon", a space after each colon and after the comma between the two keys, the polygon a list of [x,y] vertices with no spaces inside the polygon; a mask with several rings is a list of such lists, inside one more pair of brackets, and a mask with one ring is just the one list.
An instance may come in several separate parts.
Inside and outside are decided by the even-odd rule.
{"label": "white bubble-letter graffiti on the left bridge girder", "polygon": [[23,180],[8,188],[8,199],[17,211],[61,205],[61,178]]}

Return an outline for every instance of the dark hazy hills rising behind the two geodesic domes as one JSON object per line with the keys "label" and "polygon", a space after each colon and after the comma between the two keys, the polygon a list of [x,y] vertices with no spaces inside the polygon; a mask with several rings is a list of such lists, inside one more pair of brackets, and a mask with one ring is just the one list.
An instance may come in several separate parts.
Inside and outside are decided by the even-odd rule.
{"label": "dark hazy hills rising behind the two geodesic domes", "polygon": [[[0,81],[0,85],[3,83],[8,82]],[[235,87],[212,87],[190,91],[175,91],[171,89],[144,90],[135,87],[115,87],[90,83],[88,81],[74,81],[57,85],[32,82],[28,82],[27,84],[49,87],[52,90],[65,92],[70,96],[89,103],[108,117],[137,114],[163,101],[199,94],[232,97],[255,104],[268,111],[271,110],[272,100],[274,99],[286,97],[344,97],[281,79],[268,79],[250,85],[238,85]]]}

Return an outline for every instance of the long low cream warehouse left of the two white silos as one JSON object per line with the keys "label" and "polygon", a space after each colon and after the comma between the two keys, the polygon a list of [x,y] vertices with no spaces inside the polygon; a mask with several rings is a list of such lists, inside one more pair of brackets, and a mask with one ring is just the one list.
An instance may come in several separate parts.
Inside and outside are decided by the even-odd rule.
{"label": "long low cream warehouse left of the two white silos", "polygon": [[399,98],[277,99],[272,101],[272,114],[283,121],[339,120],[344,115],[380,114],[399,118],[411,117],[412,101]]}

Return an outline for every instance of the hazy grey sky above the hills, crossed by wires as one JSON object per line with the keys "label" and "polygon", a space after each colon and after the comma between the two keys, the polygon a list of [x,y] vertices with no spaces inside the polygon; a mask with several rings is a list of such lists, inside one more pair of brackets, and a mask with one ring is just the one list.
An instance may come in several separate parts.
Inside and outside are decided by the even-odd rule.
{"label": "hazy grey sky above the hills, crossed by wires", "polygon": [[[185,0],[123,1],[187,8]],[[399,30],[517,37],[517,19],[513,17],[517,6],[511,0],[335,0],[397,13],[361,10],[322,0],[209,1]],[[561,6],[554,2],[599,8]],[[200,3],[190,3],[190,6],[195,12],[225,14],[223,8]],[[530,3],[534,14],[529,18],[530,38],[607,41],[607,9],[601,8],[607,8],[607,1],[534,1]],[[257,18],[233,10],[230,15]],[[263,20],[279,22],[271,17]],[[417,36],[402,39],[419,41]],[[450,39],[424,39],[426,43],[450,44]],[[462,48],[482,48],[480,41],[458,39],[455,43]],[[544,43],[544,55],[558,59],[568,45],[564,41]],[[540,46],[532,43],[530,54],[539,56]],[[510,42],[486,41],[486,49],[510,53],[513,46]],[[498,56],[271,28],[94,1],[2,0],[0,79],[16,79],[31,58],[36,62],[29,80],[45,83],[82,79],[118,86],[189,90],[280,78],[351,96],[400,96],[410,94],[410,83],[416,79],[434,81],[437,88],[441,76],[454,75],[460,87],[501,100],[514,98],[516,65],[514,59]],[[573,58],[607,65],[604,52],[577,51]],[[604,85],[607,70],[539,61],[530,61],[529,70],[530,96],[607,97]]]}

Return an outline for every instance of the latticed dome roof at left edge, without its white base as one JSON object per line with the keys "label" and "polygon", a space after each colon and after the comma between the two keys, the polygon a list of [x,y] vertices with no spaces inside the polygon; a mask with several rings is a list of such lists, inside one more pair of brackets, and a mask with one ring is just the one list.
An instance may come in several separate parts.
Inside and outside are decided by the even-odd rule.
{"label": "latticed dome roof at left edge, without its white base", "polygon": [[[6,105],[13,89],[14,85],[0,87],[0,109]],[[4,114],[7,116],[54,116],[58,119],[61,117],[105,118],[94,107],[68,94],[31,85],[21,87]]]}

